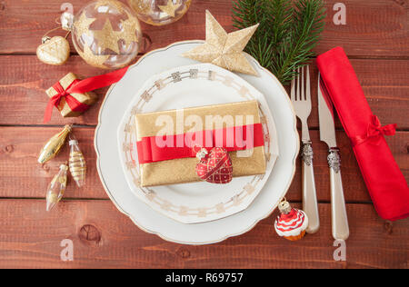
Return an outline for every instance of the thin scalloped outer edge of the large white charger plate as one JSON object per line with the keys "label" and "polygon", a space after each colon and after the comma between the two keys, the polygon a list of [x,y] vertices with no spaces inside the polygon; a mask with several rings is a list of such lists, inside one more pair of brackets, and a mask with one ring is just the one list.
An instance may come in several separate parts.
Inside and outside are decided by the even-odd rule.
{"label": "thin scalloped outer edge of the large white charger plate", "polygon": [[[151,55],[151,54],[155,54],[155,53],[157,53],[157,52],[166,51],[166,50],[168,50],[169,48],[171,48],[171,47],[173,47],[173,46],[175,46],[175,45],[183,45],[183,44],[203,44],[203,43],[205,43],[204,40],[179,41],[179,42],[175,42],[175,43],[173,43],[173,44],[171,44],[171,45],[167,45],[167,46],[165,46],[165,47],[163,47],[163,48],[158,48],[158,49],[152,50],[152,51],[150,51],[149,53],[146,53],[146,54],[144,54],[143,56],[141,56],[141,58],[140,58],[135,64],[130,65],[130,66],[129,66],[129,69],[134,68],[134,67],[135,67],[136,65],[138,65],[140,62],[142,62],[142,61],[145,59],[145,57],[147,57],[147,56],[149,56],[149,55]],[[293,114],[293,122],[294,122],[293,132],[294,132],[294,135],[295,135],[295,138],[296,138],[296,143],[295,143],[295,144],[296,144],[296,151],[295,151],[295,153],[294,153],[294,158],[293,158],[293,171],[292,171],[292,174],[291,174],[291,177],[290,177],[291,179],[290,179],[290,180],[288,181],[288,183],[286,184],[286,186],[285,186],[285,188],[284,188],[283,194],[282,194],[281,196],[279,196],[280,201],[281,201],[281,200],[284,198],[285,194],[288,192],[288,189],[290,188],[291,183],[293,183],[294,174],[295,174],[295,170],[296,170],[296,163],[295,163],[295,161],[296,161],[296,159],[297,159],[297,156],[298,156],[298,153],[299,153],[299,150],[300,150],[300,136],[299,136],[299,134],[298,134],[298,130],[297,130],[297,126],[296,126],[297,121],[296,121],[296,115],[295,115],[295,111],[294,111],[294,106],[293,106],[293,104],[291,103],[290,98],[289,98],[287,92],[285,91],[283,84],[281,84],[280,81],[277,80],[277,78],[274,76],[274,74],[272,74],[270,71],[268,71],[267,69],[265,69],[260,63],[258,63],[258,61],[256,61],[256,60],[254,59],[253,56],[251,56],[250,54],[246,54],[246,55],[247,55],[249,58],[251,58],[255,64],[257,64],[258,68],[260,68],[261,70],[264,70],[264,72],[266,72],[267,74],[270,74],[270,75],[271,75],[271,77],[272,77],[272,79],[274,80],[275,84],[277,84],[278,87],[282,90],[282,92],[287,95],[287,96],[285,97],[285,100],[286,100],[288,106],[291,108],[291,110],[292,110],[292,112],[293,112],[293,113],[292,113],[292,114]],[[248,233],[248,232],[250,232],[250,231],[254,228],[254,226],[255,226],[257,223],[259,223],[260,221],[264,220],[265,218],[269,217],[272,213],[274,213],[274,210],[275,210],[276,207],[278,206],[278,203],[275,203],[274,205],[272,205],[272,208],[271,208],[267,213],[265,213],[264,215],[262,215],[262,216],[260,216],[260,217],[257,217],[257,218],[254,220],[254,223],[249,224],[249,227],[246,228],[246,229],[244,229],[243,231],[240,231],[239,233],[228,234],[228,235],[223,236],[222,238],[215,239],[215,240],[209,241],[209,242],[194,242],[194,243],[193,243],[193,242],[184,242],[184,241],[173,240],[173,239],[171,239],[171,238],[168,238],[167,236],[165,236],[164,234],[162,234],[162,233],[160,233],[160,232],[156,232],[156,231],[149,230],[149,229],[145,228],[144,226],[142,226],[142,224],[138,223],[137,220],[136,220],[130,213],[125,212],[125,210],[119,205],[119,203],[117,203],[117,202],[115,201],[114,196],[113,196],[112,193],[110,192],[109,188],[106,186],[104,177],[102,176],[102,171],[101,171],[101,166],[100,166],[100,156],[101,156],[101,155],[100,155],[100,153],[99,153],[99,151],[98,151],[98,148],[97,148],[97,135],[98,135],[98,133],[99,133],[99,129],[100,129],[101,124],[102,124],[101,116],[102,116],[103,108],[104,108],[104,106],[105,106],[105,101],[106,101],[108,95],[109,95],[109,94],[112,92],[112,90],[114,89],[114,87],[115,87],[115,84],[112,84],[111,87],[110,87],[110,88],[108,89],[108,91],[106,92],[105,97],[104,97],[104,100],[103,100],[103,103],[101,104],[101,107],[100,107],[100,110],[99,110],[99,113],[98,113],[98,124],[96,125],[96,128],[95,128],[95,136],[94,136],[94,147],[95,147],[95,153],[96,153],[96,169],[97,169],[97,171],[98,171],[98,175],[99,175],[99,178],[100,178],[100,180],[101,180],[101,183],[102,183],[102,185],[103,185],[103,187],[104,187],[104,189],[105,189],[105,193],[108,195],[108,197],[110,198],[111,202],[114,203],[115,207],[118,209],[119,212],[121,212],[121,213],[125,214],[126,216],[128,216],[128,217],[131,219],[131,221],[132,221],[138,228],[140,228],[141,230],[145,231],[145,233],[155,234],[155,235],[157,235],[158,237],[160,237],[160,238],[162,238],[163,240],[165,240],[166,242],[175,242],[175,243],[188,244],[188,245],[205,245],[205,244],[214,244],[214,243],[217,243],[217,242],[223,242],[224,240],[226,240],[226,239],[228,239],[228,238],[230,238],[230,237],[235,237],[235,236],[242,235],[242,234],[244,234],[244,233]]]}

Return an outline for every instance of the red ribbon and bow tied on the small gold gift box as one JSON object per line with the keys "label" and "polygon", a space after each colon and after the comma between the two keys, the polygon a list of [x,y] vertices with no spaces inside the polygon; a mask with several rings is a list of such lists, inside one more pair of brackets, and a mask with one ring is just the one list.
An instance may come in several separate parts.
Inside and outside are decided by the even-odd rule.
{"label": "red ribbon and bow tied on the small gold gift box", "polygon": [[79,102],[71,94],[84,94],[86,92],[91,92],[110,84],[115,84],[122,79],[127,70],[128,67],[125,67],[108,74],[96,75],[94,77],[87,78],[81,81],[74,80],[73,83],[71,83],[66,89],[63,88],[60,82],[55,83],[53,85],[53,88],[55,89],[57,94],[50,98],[47,107],[45,108],[44,123],[50,121],[51,114],[53,114],[53,107],[58,106],[63,98],[65,98],[66,104],[68,104],[72,111],[85,112],[89,109],[90,106],[88,104]]}

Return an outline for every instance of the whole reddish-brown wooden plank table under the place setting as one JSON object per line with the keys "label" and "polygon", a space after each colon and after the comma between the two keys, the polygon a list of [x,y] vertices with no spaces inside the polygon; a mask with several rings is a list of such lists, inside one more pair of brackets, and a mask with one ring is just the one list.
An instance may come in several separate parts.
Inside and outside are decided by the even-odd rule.
{"label": "whole reddish-brown wooden plank table under the place setting", "polygon": [[[408,268],[409,220],[385,222],[375,212],[351,146],[337,122],[342,172],[351,237],[347,261],[335,262],[331,236],[329,175],[326,148],[319,141],[314,99],[310,126],[315,152],[315,178],[321,213],[319,233],[300,242],[287,242],[274,233],[276,213],[242,236],[209,246],[165,242],[138,229],[116,210],[95,168],[94,132],[106,89],[83,116],[63,119],[54,111],[43,124],[45,89],[68,72],[82,77],[104,74],[73,54],[55,67],[39,62],[36,46],[55,27],[64,1],[0,0],[0,267],[136,267],[136,268]],[[75,11],[84,1],[71,0]],[[230,0],[194,0],[175,25],[143,25],[153,41],[149,50],[175,41],[205,38],[205,9],[233,31]],[[388,137],[394,157],[409,179],[409,1],[344,0],[346,25],[334,25],[333,6],[326,2],[326,28],[316,53],[343,45],[364,87],[367,100],[383,124],[398,124]],[[63,34],[63,33],[61,33]],[[75,51],[74,48],[72,51]],[[314,79],[316,80],[316,69]],[[314,94],[316,87],[314,85]],[[49,163],[36,163],[47,139],[64,124],[75,124],[75,135],[88,164],[86,186],[70,184],[63,203],[45,213],[45,191],[68,150]],[[113,151],[115,153],[115,151]],[[299,166],[287,199],[300,206]],[[74,242],[74,261],[63,262],[64,239]]]}

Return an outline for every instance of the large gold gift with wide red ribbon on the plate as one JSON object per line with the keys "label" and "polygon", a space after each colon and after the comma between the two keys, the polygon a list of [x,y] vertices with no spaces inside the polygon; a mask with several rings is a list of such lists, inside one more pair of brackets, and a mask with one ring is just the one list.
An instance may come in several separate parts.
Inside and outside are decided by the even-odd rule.
{"label": "large gold gift with wide red ribbon on the plate", "polygon": [[257,101],[136,114],[135,127],[141,186],[201,181],[196,156],[204,149],[225,150],[233,177],[265,173]]}

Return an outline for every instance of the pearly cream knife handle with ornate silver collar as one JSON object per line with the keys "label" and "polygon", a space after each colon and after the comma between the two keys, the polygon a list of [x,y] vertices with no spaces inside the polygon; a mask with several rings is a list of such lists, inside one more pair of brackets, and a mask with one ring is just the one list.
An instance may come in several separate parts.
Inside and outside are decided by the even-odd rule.
{"label": "pearly cream knife handle with ornate silver collar", "polygon": [[341,177],[341,158],[339,150],[331,148],[328,154],[331,176],[331,207],[333,237],[335,240],[347,240],[349,237],[348,217],[346,215],[344,188]]}

